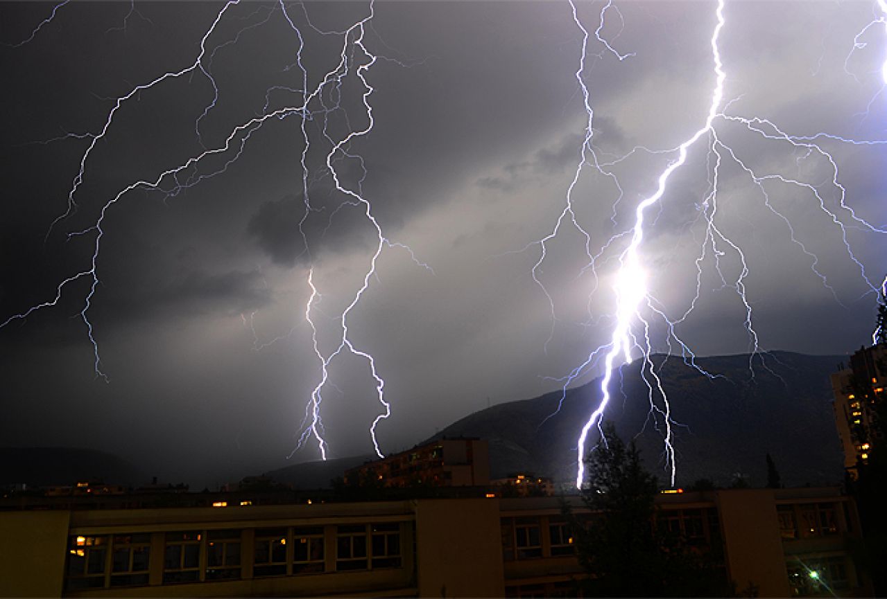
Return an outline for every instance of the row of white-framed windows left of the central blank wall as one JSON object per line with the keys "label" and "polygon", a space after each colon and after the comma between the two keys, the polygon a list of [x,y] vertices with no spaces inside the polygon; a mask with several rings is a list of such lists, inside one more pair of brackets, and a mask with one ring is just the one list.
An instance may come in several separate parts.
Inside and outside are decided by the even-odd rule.
{"label": "row of white-framed windows left of the central blank wall", "polygon": [[157,547],[151,533],[75,535],[68,542],[66,588],[145,586],[152,548],[163,551],[163,584],[238,580],[250,553],[253,578],[399,568],[400,528],[396,522],[255,528],[246,554],[238,529],[165,532]]}

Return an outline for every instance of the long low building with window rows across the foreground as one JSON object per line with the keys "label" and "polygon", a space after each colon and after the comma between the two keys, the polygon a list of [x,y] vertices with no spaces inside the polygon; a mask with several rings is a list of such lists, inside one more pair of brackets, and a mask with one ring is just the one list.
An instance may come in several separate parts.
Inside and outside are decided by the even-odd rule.
{"label": "long low building with window rows across the foreground", "polygon": [[[182,500],[187,498],[183,494]],[[575,513],[585,509],[566,498]],[[870,596],[834,487],[657,497],[660,525],[760,596]],[[561,498],[0,511],[6,596],[570,596]],[[4,507],[0,505],[0,508]],[[639,565],[642,567],[642,565]]]}

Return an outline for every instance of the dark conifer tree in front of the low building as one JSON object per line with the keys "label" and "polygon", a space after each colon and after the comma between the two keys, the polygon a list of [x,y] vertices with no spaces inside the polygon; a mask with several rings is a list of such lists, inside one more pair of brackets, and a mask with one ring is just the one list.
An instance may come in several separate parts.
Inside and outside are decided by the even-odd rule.
{"label": "dark conifer tree in front of the low building", "polygon": [[724,596],[730,587],[707,556],[655,521],[658,483],[625,446],[612,424],[586,460],[591,484],[582,494],[592,510],[581,521],[567,517],[577,539],[579,562],[588,572],[588,596]]}

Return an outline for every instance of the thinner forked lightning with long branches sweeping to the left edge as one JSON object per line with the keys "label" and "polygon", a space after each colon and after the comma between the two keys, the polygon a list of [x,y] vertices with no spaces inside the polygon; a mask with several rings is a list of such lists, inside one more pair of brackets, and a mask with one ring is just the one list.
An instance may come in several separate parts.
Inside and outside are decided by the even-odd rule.
{"label": "thinner forked lightning with long branches sweeping to the left edge", "polygon": [[[40,30],[40,28],[49,23],[51,19],[55,17],[56,12],[59,10],[59,8],[64,4],[67,4],[67,1],[58,4],[53,9],[51,17],[45,19],[40,25],[38,25],[30,35],[30,37],[28,37],[27,40],[25,40],[25,42],[23,43],[27,43],[32,40],[35,35],[37,35],[37,32]],[[114,98],[114,106],[107,113],[104,125],[98,130],[98,132],[90,132],[85,134],[67,134],[66,136],[58,138],[86,139],[89,140],[89,144],[87,145],[86,150],[82,153],[78,172],[75,175],[71,188],[67,193],[67,210],[63,214],[59,214],[59,216],[53,222],[51,222],[50,228],[47,232],[47,237],[51,234],[51,231],[59,225],[60,222],[65,221],[68,217],[76,212],[78,208],[76,197],[78,196],[78,191],[81,189],[82,183],[87,176],[88,165],[91,161],[90,158],[98,144],[101,144],[109,135],[109,132],[113,128],[116,121],[116,117],[122,109],[122,106],[129,104],[134,99],[137,99],[140,93],[148,89],[157,88],[161,86],[164,82],[169,82],[183,77],[190,77],[195,74],[203,76],[209,82],[213,89],[212,98],[210,99],[208,104],[205,105],[196,121],[194,121],[194,135],[197,137],[202,151],[195,155],[192,155],[190,158],[185,159],[183,162],[173,167],[162,170],[161,173],[156,176],[140,179],[138,181],[130,183],[129,185],[126,185],[121,190],[117,191],[112,198],[106,201],[106,203],[101,207],[98,219],[89,228],[69,233],[68,237],[94,235],[93,253],[91,256],[89,268],[85,268],[72,276],[64,278],[57,285],[56,293],[53,298],[35,304],[32,307],[28,307],[27,310],[24,310],[19,314],[8,317],[3,323],[0,323],[0,328],[5,327],[13,321],[24,320],[29,315],[35,313],[35,311],[58,305],[67,287],[81,280],[90,281],[89,290],[83,297],[83,307],[80,312],[80,317],[82,319],[82,322],[86,326],[87,336],[90,339],[90,344],[93,349],[94,370],[96,372],[96,375],[97,377],[101,377],[108,381],[106,373],[102,370],[98,340],[95,336],[94,326],[89,317],[90,307],[92,306],[92,302],[94,300],[99,284],[98,263],[100,259],[101,241],[103,236],[105,235],[104,226],[106,222],[106,214],[108,213],[108,211],[117,202],[127,196],[127,194],[129,194],[131,191],[160,191],[164,194],[166,198],[174,198],[182,191],[190,189],[195,185],[207,180],[208,178],[223,174],[227,170],[227,168],[232,165],[233,162],[239,159],[246,145],[250,141],[250,137],[255,133],[255,131],[263,128],[270,123],[273,123],[274,121],[282,121],[290,116],[296,116],[301,119],[300,129],[302,134],[303,146],[300,159],[300,167],[302,170],[302,197],[304,201],[305,212],[302,216],[302,220],[299,222],[297,234],[302,236],[302,241],[304,242],[305,247],[304,253],[307,253],[310,257],[310,243],[305,231],[305,226],[310,214],[320,211],[319,208],[313,206],[311,203],[310,188],[312,183],[315,183],[318,178],[324,176],[324,173],[318,173],[315,177],[312,178],[308,157],[311,147],[316,143],[316,140],[313,140],[310,136],[310,131],[307,128],[306,123],[307,121],[318,118],[318,116],[322,116],[323,128],[321,131],[321,136],[323,138],[323,141],[325,141],[326,144],[329,144],[330,146],[329,151],[326,152],[326,159],[324,161],[326,168],[324,172],[326,173],[326,176],[332,178],[335,191],[341,194],[343,198],[345,198],[341,202],[341,204],[334,210],[333,214],[330,216],[330,220],[332,221],[334,214],[344,207],[360,207],[363,210],[366,221],[375,231],[378,243],[376,244],[375,249],[370,256],[369,263],[367,265],[367,268],[365,269],[363,283],[357,287],[357,290],[351,296],[351,300],[349,300],[348,306],[344,308],[339,317],[339,329],[341,331],[339,344],[334,348],[332,352],[326,354],[321,350],[318,341],[318,325],[313,317],[313,311],[317,307],[318,301],[321,298],[321,294],[318,291],[318,287],[314,283],[315,267],[311,265],[308,269],[308,285],[310,287],[310,297],[304,309],[304,319],[310,326],[311,346],[314,354],[318,358],[318,362],[320,365],[320,377],[318,384],[310,393],[310,398],[306,403],[305,417],[302,421],[301,432],[297,435],[297,444],[290,456],[292,456],[297,449],[303,447],[306,442],[308,442],[309,440],[314,440],[317,443],[318,451],[321,458],[326,459],[328,453],[328,445],[325,439],[324,424],[321,419],[323,390],[326,388],[327,385],[334,386],[334,384],[330,380],[329,367],[330,364],[334,362],[334,360],[338,356],[341,356],[341,354],[345,353],[353,354],[363,359],[367,363],[370,370],[370,375],[373,378],[375,388],[374,395],[376,400],[380,404],[381,410],[378,416],[375,416],[373,418],[373,422],[369,425],[368,433],[370,439],[372,440],[376,454],[382,456],[379,440],[377,439],[377,429],[381,422],[390,416],[391,405],[389,401],[387,401],[385,398],[385,381],[381,377],[380,372],[377,369],[376,360],[373,357],[373,354],[371,354],[365,348],[357,346],[357,344],[350,337],[349,316],[352,315],[358,303],[365,295],[365,292],[367,292],[373,276],[377,276],[377,263],[382,251],[385,248],[404,250],[409,253],[412,261],[418,266],[426,268],[431,272],[433,272],[433,270],[427,264],[420,261],[409,246],[392,241],[389,239],[389,237],[386,237],[383,234],[381,224],[380,222],[378,222],[373,214],[373,207],[370,201],[365,198],[362,191],[363,182],[367,175],[364,160],[360,156],[357,156],[356,154],[353,154],[349,151],[349,146],[358,138],[367,136],[373,129],[374,124],[373,106],[370,104],[369,101],[370,96],[373,94],[373,86],[368,80],[368,73],[371,67],[379,59],[379,57],[373,54],[373,52],[367,48],[367,45],[365,43],[366,27],[370,23],[371,19],[373,19],[373,16],[375,14],[374,3],[373,0],[370,1],[367,14],[364,18],[357,20],[346,29],[338,32],[321,31],[318,27],[315,27],[313,24],[311,24],[308,9],[304,4],[302,4],[304,19],[308,23],[309,27],[312,27],[318,34],[338,35],[341,38],[338,63],[320,78],[320,81],[313,89],[309,89],[309,73],[307,67],[304,65],[302,60],[303,51],[305,51],[305,40],[302,36],[302,31],[299,27],[297,27],[293,15],[291,15],[289,10],[287,9],[287,5],[284,4],[283,0],[279,0],[277,8],[279,8],[280,14],[282,14],[284,19],[286,19],[287,24],[289,25],[289,27],[292,28],[294,35],[296,35],[298,38],[298,50],[296,51],[295,62],[292,67],[297,68],[297,70],[301,73],[302,88],[297,89],[290,86],[274,86],[268,89],[265,93],[265,106],[263,113],[259,116],[255,116],[254,118],[250,118],[247,121],[240,122],[238,125],[230,129],[229,134],[224,138],[223,143],[212,146],[208,143],[207,140],[204,139],[204,136],[201,133],[201,122],[204,121],[208,117],[208,114],[211,113],[211,111],[215,108],[220,95],[219,87],[216,84],[216,80],[212,74],[212,61],[216,57],[216,52],[224,48],[225,46],[238,43],[240,36],[245,31],[254,27],[262,26],[264,23],[268,22],[271,19],[272,13],[274,12],[274,9],[272,8],[270,11],[267,12],[267,14],[263,16],[263,19],[251,25],[242,27],[232,39],[228,40],[227,42],[220,43],[214,47],[210,46],[209,40],[214,34],[216,34],[220,22],[222,22],[222,20],[227,15],[229,15],[230,12],[232,12],[233,7],[237,6],[238,4],[240,4],[240,0],[229,0],[216,13],[215,19],[213,19],[212,23],[200,40],[200,51],[197,57],[193,59],[190,66],[177,71],[168,71],[153,78],[148,82],[133,86],[127,93]],[[264,7],[260,7],[255,12],[252,12],[250,15],[248,15],[247,19],[250,19],[251,17],[257,15],[259,12],[263,12],[265,10],[267,9]],[[133,12],[137,12],[135,11],[134,5],[131,7],[130,13],[124,19],[124,27],[126,24],[126,20],[130,18]],[[139,16],[141,15],[139,14]],[[394,62],[398,61],[394,60]],[[398,64],[401,63],[398,62]],[[359,99],[365,111],[365,120],[367,124],[364,128],[357,129],[350,128],[349,126],[351,130],[347,134],[341,136],[339,139],[334,139],[328,128],[329,118],[332,113],[335,113],[337,111],[343,112],[344,110],[341,106],[341,89],[343,82],[345,82],[346,78],[348,78],[349,76],[356,77],[363,87],[363,92],[361,93]],[[295,93],[299,97],[301,97],[301,101],[294,105],[283,105],[271,110],[271,94],[272,92],[278,90],[285,90],[290,93]],[[327,97],[335,98],[332,105],[327,104]],[[346,122],[349,121],[347,113],[344,115],[344,119]],[[46,143],[49,143],[49,141],[51,140],[47,140]],[[221,165],[215,163],[214,166],[214,163],[212,162],[212,160],[214,159],[221,159]],[[343,180],[343,175],[341,175],[339,170],[339,165],[341,164],[341,162],[349,159],[357,159],[363,173],[363,175],[357,181],[356,186],[350,186],[348,183],[346,183]],[[294,231],[294,233],[296,232]],[[271,345],[271,343],[274,343],[275,341],[279,340],[280,338],[284,338],[289,334],[287,333],[287,335],[281,335],[279,337],[273,338],[270,342],[261,343],[255,331],[254,316],[255,313],[251,314],[248,320],[246,315],[241,315],[241,318],[243,320],[243,323],[247,325],[250,331],[252,331],[253,333],[253,345],[256,350],[260,350],[264,346]],[[290,333],[292,333],[293,331],[294,329],[291,330]]]}

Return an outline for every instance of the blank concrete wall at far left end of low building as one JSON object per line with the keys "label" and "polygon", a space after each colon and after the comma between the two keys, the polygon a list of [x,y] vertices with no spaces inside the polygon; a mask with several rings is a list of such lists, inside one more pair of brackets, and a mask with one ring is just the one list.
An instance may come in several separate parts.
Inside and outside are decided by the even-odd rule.
{"label": "blank concrete wall at far left end of low building", "polygon": [[67,511],[0,512],[0,596],[61,595]]}

